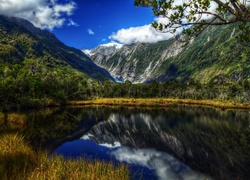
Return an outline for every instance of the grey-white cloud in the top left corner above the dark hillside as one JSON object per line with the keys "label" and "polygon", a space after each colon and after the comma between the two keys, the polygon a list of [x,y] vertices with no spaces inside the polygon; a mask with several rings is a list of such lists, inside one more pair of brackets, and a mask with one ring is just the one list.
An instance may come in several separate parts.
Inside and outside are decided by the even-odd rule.
{"label": "grey-white cloud in the top left corner above the dark hillside", "polygon": [[[54,29],[67,22],[76,8],[73,1],[64,4],[57,0],[0,0],[0,14],[29,20],[36,27]],[[69,20],[68,25],[76,25]]]}

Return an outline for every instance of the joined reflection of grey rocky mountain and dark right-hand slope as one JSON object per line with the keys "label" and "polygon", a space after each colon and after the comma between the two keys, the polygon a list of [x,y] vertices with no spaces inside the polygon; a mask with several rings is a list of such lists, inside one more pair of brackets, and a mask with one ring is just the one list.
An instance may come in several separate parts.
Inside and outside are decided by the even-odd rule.
{"label": "joined reflection of grey rocky mountain and dark right-hand slope", "polygon": [[246,113],[205,108],[124,110],[95,125],[88,138],[98,144],[118,141],[125,146],[165,151],[216,179],[247,179],[250,137],[244,127],[246,117]]}

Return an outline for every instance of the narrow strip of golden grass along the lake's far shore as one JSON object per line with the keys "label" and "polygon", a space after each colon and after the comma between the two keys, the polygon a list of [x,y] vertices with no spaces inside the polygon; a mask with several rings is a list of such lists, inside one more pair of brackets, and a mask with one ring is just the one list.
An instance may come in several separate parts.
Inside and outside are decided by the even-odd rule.
{"label": "narrow strip of golden grass along the lake's far shore", "polygon": [[122,106],[171,106],[171,105],[192,105],[209,106],[220,109],[250,109],[250,103],[221,102],[214,100],[192,100],[192,99],[164,99],[164,98],[101,98],[86,101],[69,101],[67,105],[122,105]]}

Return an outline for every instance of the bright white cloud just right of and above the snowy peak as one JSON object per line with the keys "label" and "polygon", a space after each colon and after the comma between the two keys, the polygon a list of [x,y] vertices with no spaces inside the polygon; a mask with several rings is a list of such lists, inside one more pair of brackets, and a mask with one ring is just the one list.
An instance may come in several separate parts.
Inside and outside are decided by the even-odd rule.
{"label": "bright white cloud just right of and above the snowy peak", "polygon": [[112,41],[118,41],[122,44],[133,43],[156,43],[173,37],[170,33],[161,33],[156,31],[151,25],[131,27],[121,29],[113,33],[109,38]]}

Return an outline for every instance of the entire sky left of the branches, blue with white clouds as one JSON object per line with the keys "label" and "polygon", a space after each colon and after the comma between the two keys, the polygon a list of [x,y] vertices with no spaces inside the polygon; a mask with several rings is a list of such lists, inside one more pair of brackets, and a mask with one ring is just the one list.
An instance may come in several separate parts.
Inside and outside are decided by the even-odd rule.
{"label": "entire sky left of the branches, blue with white clouds", "polygon": [[135,7],[134,0],[0,0],[0,14],[27,19],[78,49],[172,37],[152,28],[151,8]]}

